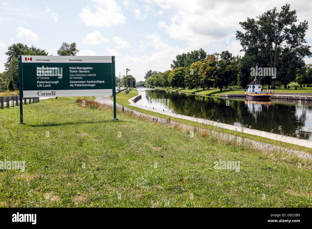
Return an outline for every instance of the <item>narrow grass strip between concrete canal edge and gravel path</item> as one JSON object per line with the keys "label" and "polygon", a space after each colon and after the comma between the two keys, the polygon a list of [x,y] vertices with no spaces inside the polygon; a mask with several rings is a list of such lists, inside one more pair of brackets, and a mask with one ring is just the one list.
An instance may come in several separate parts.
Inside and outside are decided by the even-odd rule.
{"label": "narrow grass strip between concrete canal edge and gravel path", "polygon": [[[138,91],[135,88],[128,95],[124,94],[124,93],[119,93],[119,94],[116,95],[116,103],[118,103],[118,104],[120,104],[120,105],[122,105],[124,107],[133,109],[134,111],[138,111],[138,112],[144,113],[144,114],[154,115],[154,116],[161,117],[161,118],[169,118],[170,117],[171,121],[179,122],[179,123],[186,124],[186,125],[189,125],[189,126],[197,126],[198,125],[197,123],[195,123],[193,121],[189,121],[189,120],[185,120],[185,119],[181,119],[181,118],[177,118],[177,117],[171,117],[171,116],[168,116],[168,115],[163,115],[163,114],[160,114],[160,113],[157,113],[157,112],[152,112],[152,111],[144,110],[144,109],[141,109],[141,108],[129,105],[128,100],[130,98],[136,96],[136,95],[138,95]],[[207,129],[211,128],[209,125],[203,124],[203,126],[205,128],[207,128]],[[218,128],[218,130],[221,131],[224,134],[231,134],[231,135],[236,135],[237,134],[235,131],[224,129],[224,128]],[[240,131],[240,128],[237,127],[237,130]],[[306,152],[306,153],[312,153],[312,150],[310,148],[301,147],[301,146],[293,145],[293,144],[286,143],[286,142],[275,141],[275,140],[272,140],[272,139],[269,139],[269,138],[265,138],[265,137],[261,137],[261,136],[256,136],[256,135],[251,135],[251,134],[244,134],[244,137],[246,137],[248,139],[251,139],[251,140],[255,140],[255,141],[260,141],[260,142],[263,142],[263,143],[271,144],[271,145],[274,145],[274,146],[281,146],[281,147],[284,147],[284,148],[287,148],[287,149],[295,149],[295,150],[300,150],[300,151],[303,151],[303,152]]]}

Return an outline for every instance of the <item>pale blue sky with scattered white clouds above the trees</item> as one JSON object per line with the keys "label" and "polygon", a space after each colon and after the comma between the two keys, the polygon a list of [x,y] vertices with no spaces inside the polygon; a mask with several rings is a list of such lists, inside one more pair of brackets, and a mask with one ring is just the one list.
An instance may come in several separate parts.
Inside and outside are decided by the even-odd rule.
{"label": "pale blue sky with scattered white clouds above the trees", "polygon": [[[0,3],[0,72],[12,43],[46,49],[57,55],[62,42],[76,42],[78,55],[115,55],[116,74],[129,68],[137,80],[149,69],[165,71],[177,54],[203,48],[243,55],[236,30],[239,21],[260,15],[284,1],[90,0],[6,1]],[[312,2],[288,1],[299,21],[310,28]],[[312,51],[312,50],[311,50]],[[306,59],[306,63],[312,63]]]}

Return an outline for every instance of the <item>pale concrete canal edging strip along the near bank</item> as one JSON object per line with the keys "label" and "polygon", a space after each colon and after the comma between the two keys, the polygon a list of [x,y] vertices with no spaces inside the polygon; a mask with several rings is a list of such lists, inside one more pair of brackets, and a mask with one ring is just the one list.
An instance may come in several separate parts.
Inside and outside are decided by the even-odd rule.
{"label": "pale concrete canal edging strip along the near bank", "polygon": [[[137,96],[139,96],[139,95],[137,95]],[[241,132],[241,128],[239,126],[234,126],[234,125],[225,124],[225,123],[221,123],[221,122],[218,123],[218,122],[214,122],[214,121],[208,121],[207,119],[194,118],[194,117],[189,117],[189,116],[181,115],[181,114],[177,115],[177,114],[174,114],[172,112],[157,110],[157,109],[153,109],[151,107],[144,107],[144,106],[138,105],[132,101],[132,100],[134,100],[135,97],[128,100],[131,106],[139,107],[139,108],[144,109],[144,110],[157,112],[157,113],[160,113],[163,115],[168,115],[171,117],[182,118],[182,119],[186,119],[186,120],[190,120],[190,121],[194,121],[194,122],[210,124],[210,125],[226,128],[229,130],[234,130],[234,131],[237,130],[238,132]],[[246,134],[252,134],[252,135],[256,135],[256,136],[270,138],[270,139],[273,139],[276,141],[283,141],[283,142],[291,143],[291,144],[298,145],[298,146],[305,146],[308,148],[312,148],[312,141],[309,141],[309,140],[297,139],[297,138],[290,137],[290,136],[283,136],[280,134],[274,134],[274,133],[269,133],[269,132],[259,131],[259,130],[249,129],[249,128],[244,129],[243,132]]]}

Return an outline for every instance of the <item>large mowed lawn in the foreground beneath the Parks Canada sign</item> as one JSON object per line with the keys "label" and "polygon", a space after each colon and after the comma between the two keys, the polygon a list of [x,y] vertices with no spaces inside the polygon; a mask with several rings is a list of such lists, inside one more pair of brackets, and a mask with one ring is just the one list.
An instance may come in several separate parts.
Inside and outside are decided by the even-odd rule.
{"label": "large mowed lawn in the foreground beneath the Parks Canada sign", "polygon": [[[112,121],[76,98],[23,107],[26,125],[18,107],[0,110],[0,160],[26,161],[0,170],[2,207],[312,206],[311,169],[266,152],[122,112]],[[214,169],[219,159],[240,171]]]}

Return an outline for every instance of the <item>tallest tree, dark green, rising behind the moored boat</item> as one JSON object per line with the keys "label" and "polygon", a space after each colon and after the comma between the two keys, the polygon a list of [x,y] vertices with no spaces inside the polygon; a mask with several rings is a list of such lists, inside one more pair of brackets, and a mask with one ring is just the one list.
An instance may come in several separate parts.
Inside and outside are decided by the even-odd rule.
{"label": "tallest tree, dark green, rising behind the moored boat", "polygon": [[[241,41],[242,50],[261,51],[260,60],[269,64],[271,68],[289,59],[290,55],[296,56],[297,59],[312,55],[309,50],[311,46],[304,45],[307,43],[304,37],[308,22],[298,24],[296,10],[290,11],[289,4],[282,6],[280,12],[274,7],[256,18],[257,21],[247,17],[247,21],[239,22],[245,30],[236,31],[236,39]],[[271,87],[275,88],[274,77],[271,78]]]}

